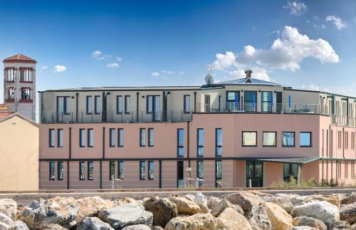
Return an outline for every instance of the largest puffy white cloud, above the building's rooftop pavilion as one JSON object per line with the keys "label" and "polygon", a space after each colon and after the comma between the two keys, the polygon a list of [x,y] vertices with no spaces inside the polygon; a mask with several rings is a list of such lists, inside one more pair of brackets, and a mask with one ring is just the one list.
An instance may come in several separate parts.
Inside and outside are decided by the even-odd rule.
{"label": "largest puffy white cloud, above the building's rooftop pavilion", "polygon": [[[248,45],[240,53],[231,51],[217,53],[216,60],[211,66],[214,70],[228,73],[232,71],[234,74],[241,73],[246,68],[254,68],[253,75],[256,78],[268,80],[269,70],[298,70],[304,58],[315,58],[320,63],[339,61],[339,56],[328,41],[321,38],[310,39],[300,34],[297,28],[285,26],[281,36],[273,41],[270,48],[256,49]],[[234,72],[236,70],[237,72]],[[258,73],[261,76],[258,76]]]}

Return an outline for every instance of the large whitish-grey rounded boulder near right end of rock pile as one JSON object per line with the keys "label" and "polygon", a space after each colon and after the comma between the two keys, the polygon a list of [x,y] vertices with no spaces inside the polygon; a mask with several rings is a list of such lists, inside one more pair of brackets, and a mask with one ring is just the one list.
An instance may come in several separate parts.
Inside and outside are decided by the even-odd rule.
{"label": "large whitish-grey rounded boulder near right end of rock pile", "polygon": [[290,214],[292,216],[309,216],[320,219],[328,227],[333,222],[340,220],[338,207],[325,201],[314,201],[295,206],[290,211]]}

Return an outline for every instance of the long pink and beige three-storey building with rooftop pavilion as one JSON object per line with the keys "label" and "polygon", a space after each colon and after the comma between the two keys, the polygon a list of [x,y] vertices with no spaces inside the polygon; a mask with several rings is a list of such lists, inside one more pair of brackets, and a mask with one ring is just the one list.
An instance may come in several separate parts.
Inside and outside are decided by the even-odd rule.
{"label": "long pink and beige three-storey building with rooftop pavilion", "polygon": [[41,189],[356,184],[356,98],[248,70],[201,86],[39,93]]}

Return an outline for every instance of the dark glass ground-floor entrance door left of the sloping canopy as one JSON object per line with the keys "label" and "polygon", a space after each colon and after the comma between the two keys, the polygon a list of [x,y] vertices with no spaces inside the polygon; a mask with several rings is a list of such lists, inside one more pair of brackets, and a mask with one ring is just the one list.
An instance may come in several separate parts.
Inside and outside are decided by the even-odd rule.
{"label": "dark glass ground-floor entrance door left of the sloping canopy", "polygon": [[246,187],[263,187],[263,162],[246,161]]}

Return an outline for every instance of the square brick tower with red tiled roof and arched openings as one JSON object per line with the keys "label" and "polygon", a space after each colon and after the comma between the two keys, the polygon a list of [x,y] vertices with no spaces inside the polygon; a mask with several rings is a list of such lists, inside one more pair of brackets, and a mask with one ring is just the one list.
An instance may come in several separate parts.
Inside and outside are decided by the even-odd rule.
{"label": "square brick tower with red tiled roof and arched openings", "polygon": [[16,54],[4,61],[4,104],[16,112],[36,120],[36,61]]}

